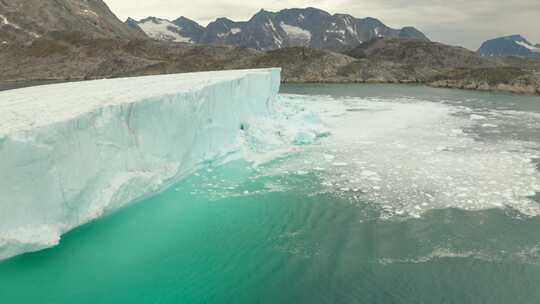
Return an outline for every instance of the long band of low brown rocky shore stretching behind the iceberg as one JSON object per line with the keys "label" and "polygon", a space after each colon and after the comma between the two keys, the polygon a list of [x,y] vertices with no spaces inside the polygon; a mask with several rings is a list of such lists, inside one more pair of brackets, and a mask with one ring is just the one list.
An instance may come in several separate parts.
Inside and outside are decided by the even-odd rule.
{"label": "long band of low brown rocky shore stretching behind the iceberg", "polygon": [[281,67],[284,83],[390,83],[540,95],[540,60],[486,58],[429,41],[384,38],[344,53],[64,35],[0,52],[0,86]]}

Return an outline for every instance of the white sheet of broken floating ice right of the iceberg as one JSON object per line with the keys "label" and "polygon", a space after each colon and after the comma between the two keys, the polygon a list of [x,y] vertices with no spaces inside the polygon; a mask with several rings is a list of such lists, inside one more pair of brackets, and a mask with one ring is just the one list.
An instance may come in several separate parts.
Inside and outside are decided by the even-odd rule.
{"label": "white sheet of broken floating ice right of the iceberg", "polygon": [[[412,99],[281,98],[320,113],[331,136],[276,165],[276,172],[281,167],[311,171],[320,180],[319,191],[352,204],[372,202],[385,217],[506,207],[540,215],[540,205],[529,198],[540,191],[540,172],[533,163],[538,142],[513,135],[478,141],[470,133],[495,127],[508,134],[513,134],[505,129],[510,127],[534,131],[540,124],[535,113],[486,110],[470,115],[463,106]],[[306,165],[306,159],[317,167]]]}

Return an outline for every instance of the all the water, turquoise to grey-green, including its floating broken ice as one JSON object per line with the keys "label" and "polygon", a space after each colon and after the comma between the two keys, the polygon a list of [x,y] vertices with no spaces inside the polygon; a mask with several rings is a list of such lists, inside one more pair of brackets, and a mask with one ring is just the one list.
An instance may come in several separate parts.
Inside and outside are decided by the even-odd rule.
{"label": "all the water, turquoise to grey-green, including its floating broken ice", "polygon": [[539,97],[282,91],[328,134],[0,262],[0,303],[540,303]]}

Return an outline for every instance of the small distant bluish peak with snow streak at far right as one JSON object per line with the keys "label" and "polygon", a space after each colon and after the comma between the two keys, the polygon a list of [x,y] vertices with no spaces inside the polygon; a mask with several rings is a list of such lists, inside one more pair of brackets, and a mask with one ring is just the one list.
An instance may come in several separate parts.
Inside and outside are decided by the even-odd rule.
{"label": "small distant bluish peak with snow streak at far right", "polygon": [[483,56],[540,57],[540,45],[533,45],[521,35],[488,40],[478,52]]}

